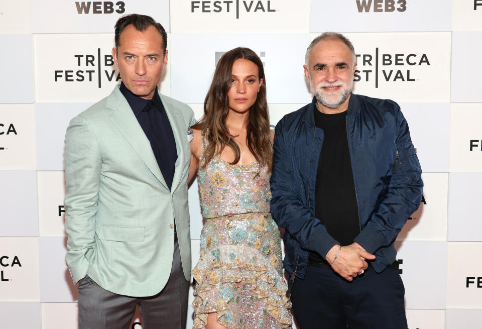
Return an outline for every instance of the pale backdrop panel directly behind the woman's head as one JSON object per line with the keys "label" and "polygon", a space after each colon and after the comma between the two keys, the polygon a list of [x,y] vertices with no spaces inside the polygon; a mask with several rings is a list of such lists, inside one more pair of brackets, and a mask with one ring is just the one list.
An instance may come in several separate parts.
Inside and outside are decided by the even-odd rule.
{"label": "pale backdrop panel directly behind the woman's head", "polygon": [[311,96],[303,75],[304,54],[310,42],[309,37],[308,33],[173,33],[172,97],[186,103],[203,103],[220,55],[235,47],[249,47],[264,62],[268,102],[309,102]]}

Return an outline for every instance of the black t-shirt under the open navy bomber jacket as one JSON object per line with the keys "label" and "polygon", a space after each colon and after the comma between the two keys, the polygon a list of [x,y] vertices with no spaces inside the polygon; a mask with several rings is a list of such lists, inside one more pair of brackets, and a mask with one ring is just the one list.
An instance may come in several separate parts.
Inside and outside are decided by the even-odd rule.
{"label": "black t-shirt under the open navy bomber jacket", "polygon": [[[351,244],[360,232],[346,114],[324,114],[316,106],[314,109],[315,126],[324,131],[316,172],[315,217],[342,246]],[[310,259],[325,262],[321,256],[325,255],[312,252]]]}

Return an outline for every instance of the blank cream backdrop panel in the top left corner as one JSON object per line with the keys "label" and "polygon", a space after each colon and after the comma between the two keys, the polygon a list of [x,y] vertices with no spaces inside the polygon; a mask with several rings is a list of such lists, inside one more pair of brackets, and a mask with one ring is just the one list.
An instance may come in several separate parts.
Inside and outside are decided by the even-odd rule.
{"label": "blank cream backdrop panel in the top left corner", "polygon": [[0,33],[32,33],[30,0],[2,0],[0,12]]}

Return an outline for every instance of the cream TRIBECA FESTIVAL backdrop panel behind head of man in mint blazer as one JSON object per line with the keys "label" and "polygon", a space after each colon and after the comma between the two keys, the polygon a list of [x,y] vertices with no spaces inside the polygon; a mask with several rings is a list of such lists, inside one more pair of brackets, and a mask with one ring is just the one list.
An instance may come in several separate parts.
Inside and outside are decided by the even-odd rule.
{"label": "cream TRIBECA FESTIVAL backdrop panel behind head of man in mint blazer", "polygon": [[[113,34],[37,34],[34,41],[39,102],[98,101],[121,81],[116,80],[118,68],[111,55]],[[161,77],[160,90],[166,95],[170,94],[169,66],[168,61]]]}

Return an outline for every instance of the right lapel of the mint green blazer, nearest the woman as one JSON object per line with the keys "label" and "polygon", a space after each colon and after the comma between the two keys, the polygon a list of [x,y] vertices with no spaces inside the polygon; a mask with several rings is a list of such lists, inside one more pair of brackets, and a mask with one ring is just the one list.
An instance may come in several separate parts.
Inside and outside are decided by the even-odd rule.
{"label": "right lapel of the mint green blazer, nearest the woman", "polygon": [[181,178],[185,174],[186,170],[189,170],[189,166],[184,166],[186,159],[185,155],[185,143],[187,141],[187,130],[184,127],[184,121],[182,115],[179,113],[176,107],[172,104],[170,98],[164,97],[159,93],[162,104],[166,110],[169,123],[171,124],[172,133],[174,134],[174,140],[176,141],[177,160],[174,168],[174,177],[172,178],[171,192],[176,190],[177,185],[181,181]]}

